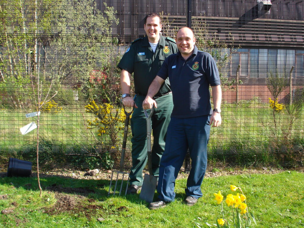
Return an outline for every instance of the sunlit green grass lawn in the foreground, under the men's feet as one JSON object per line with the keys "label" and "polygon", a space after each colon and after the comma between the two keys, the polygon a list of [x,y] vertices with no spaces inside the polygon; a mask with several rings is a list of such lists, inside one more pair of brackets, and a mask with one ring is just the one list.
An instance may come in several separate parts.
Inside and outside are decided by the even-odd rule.
{"label": "sunlit green grass lawn in the foreground, under the men's feet", "polygon": [[[138,195],[108,197],[108,180],[42,178],[44,190],[40,198],[36,178],[5,177],[0,179],[0,210],[11,212],[1,214],[0,227],[184,228],[197,227],[195,222],[207,227],[204,221],[214,224],[221,216],[213,193],[220,190],[224,196],[235,195],[229,188],[232,184],[241,187],[247,197],[249,210],[257,220],[257,226],[253,227],[299,228],[304,227],[303,179],[304,173],[296,171],[205,178],[201,187],[203,197],[192,207],[182,203],[186,179],[179,179],[175,186],[176,200],[151,211]],[[55,189],[61,193],[52,191]],[[85,196],[75,192],[84,192]],[[70,205],[65,209],[67,202]],[[224,210],[225,216],[231,218],[225,204]]]}

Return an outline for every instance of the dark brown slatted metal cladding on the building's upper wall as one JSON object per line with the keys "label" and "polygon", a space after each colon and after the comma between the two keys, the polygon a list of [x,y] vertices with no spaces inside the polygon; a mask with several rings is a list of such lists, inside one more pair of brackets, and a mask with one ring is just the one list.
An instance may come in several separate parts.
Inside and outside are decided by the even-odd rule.
{"label": "dark brown slatted metal cladding on the building's upper wall", "polygon": [[[117,10],[120,23],[113,31],[121,43],[130,43],[144,35],[143,17],[163,12],[173,26],[186,25],[187,1],[98,1]],[[270,2],[270,1],[269,1]],[[268,2],[268,3],[269,3]],[[304,2],[256,0],[192,0],[192,20],[206,21],[209,32],[228,44],[259,47],[304,47]]]}

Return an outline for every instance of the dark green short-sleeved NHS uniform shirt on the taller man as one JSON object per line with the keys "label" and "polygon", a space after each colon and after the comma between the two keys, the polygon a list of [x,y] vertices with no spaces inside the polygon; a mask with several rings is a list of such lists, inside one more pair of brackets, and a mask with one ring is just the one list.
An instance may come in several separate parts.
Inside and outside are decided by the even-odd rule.
{"label": "dark green short-sleeved NHS uniform shirt on the taller man", "polygon": [[[121,58],[118,67],[133,74],[135,93],[146,95],[151,82],[157,75],[164,60],[178,49],[172,38],[160,35],[159,43],[153,52],[148,37],[132,42],[130,48]],[[155,95],[156,97],[171,91],[168,78]]]}

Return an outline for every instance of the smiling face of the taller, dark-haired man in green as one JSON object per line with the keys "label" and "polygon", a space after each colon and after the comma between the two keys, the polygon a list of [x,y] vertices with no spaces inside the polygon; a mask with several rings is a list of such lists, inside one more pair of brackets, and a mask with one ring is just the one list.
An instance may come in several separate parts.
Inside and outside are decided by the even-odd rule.
{"label": "smiling face of the taller, dark-haired man in green", "polygon": [[150,43],[157,43],[160,37],[161,23],[158,17],[148,17],[143,25]]}

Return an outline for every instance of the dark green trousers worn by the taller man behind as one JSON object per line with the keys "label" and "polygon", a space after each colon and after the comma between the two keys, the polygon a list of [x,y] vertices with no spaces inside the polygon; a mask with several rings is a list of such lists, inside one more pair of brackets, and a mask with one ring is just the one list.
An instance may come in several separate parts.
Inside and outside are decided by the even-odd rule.
{"label": "dark green trousers worn by the taller man behind", "polygon": [[[134,99],[137,109],[134,109],[131,118],[132,130],[132,168],[130,171],[130,185],[143,184],[143,168],[147,163],[147,121],[143,112],[145,96],[138,95]],[[172,93],[157,98],[157,109],[151,116],[153,134],[152,147],[152,172],[155,177],[159,175],[159,164],[165,149],[167,128],[173,109]]]}

